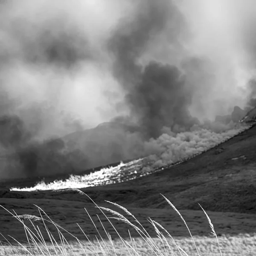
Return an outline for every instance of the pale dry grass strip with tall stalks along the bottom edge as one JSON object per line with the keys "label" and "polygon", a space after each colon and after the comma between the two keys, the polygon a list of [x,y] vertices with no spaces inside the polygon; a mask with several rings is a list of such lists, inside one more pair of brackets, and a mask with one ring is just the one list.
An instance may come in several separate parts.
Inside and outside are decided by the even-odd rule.
{"label": "pale dry grass strip with tall stalks along the bottom edge", "polygon": [[[73,189],[70,189],[73,190]],[[87,196],[79,189],[74,191]],[[88,197],[88,196],[87,196]],[[165,198],[165,197],[164,197]],[[90,199],[90,198],[89,198]],[[90,199],[91,200],[91,199]],[[166,230],[160,223],[149,218],[148,222],[154,229],[156,237],[153,238],[147,231],[147,229],[138,221],[138,219],[125,207],[120,206],[112,202],[108,202],[110,207],[99,207],[92,200],[96,208],[100,210],[102,216],[109,222],[109,224],[116,231],[118,239],[113,239],[108,230],[105,229],[105,225],[101,218],[99,223],[90,216],[90,213],[85,209],[85,212],[89,216],[93,223],[93,226],[98,232],[95,238],[88,237],[86,230],[82,230],[84,233],[84,239],[78,239],[76,236],[55,223],[46,212],[40,207],[38,208],[39,215],[17,215],[16,212],[9,212],[19,221],[24,228],[26,234],[26,242],[17,241],[12,236],[1,239],[2,247],[0,247],[0,255],[7,256],[168,256],[168,255],[250,255],[250,251],[253,251],[253,247],[256,245],[255,236],[240,236],[240,237],[224,237],[218,239],[215,233],[212,222],[209,216],[204,211],[207,221],[209,222],[209,230],[212,231],[212,238],[210,237],[195,237],[193,238],[190,233],[189,227],[186,224],[186,220],[175,208],[175,206],[165,198],[167,203],[175,210],[176,214],[182,219],[187,227],[188,234],[191,238],[173,238],[172,235]],[[115,207],[116,210],[111,208]],[[109,216],[110,215],[110,216]],[[127,217],[125,217],[127,216]],[[128,239],[124,239],[116,229],[119,222],[123,222],[129,228]],[[40,224],[41,223],[41,227]],[[117,223],[117,224],[113,224]],[[44,227],[44,232],[42,230]],[[58,237],[54,237],[51,232],[53,226],[58,231]],[[77,228],[80,226],[77,224]],[[131,236],[131,230],[137,233],[137,237]],[[75,241],[69,242],[66,238],[72,236]],[[48,239],[47,239],[48,238]],[[10,242],[12,240],[12,242]],[[47,240],[49,242],[47,242]],[[241,249],[243,253],[241,253]],[[241,254],[235,254],[241,253]]]}

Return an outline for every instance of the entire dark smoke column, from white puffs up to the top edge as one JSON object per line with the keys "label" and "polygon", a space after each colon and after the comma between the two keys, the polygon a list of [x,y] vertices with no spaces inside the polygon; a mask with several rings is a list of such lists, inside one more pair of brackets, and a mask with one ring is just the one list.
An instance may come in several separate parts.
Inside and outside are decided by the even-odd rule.
{"label": "entire dark smoke column, from white puffs up to the top edge", "polygon": [[[126,92],[131,119],[142,127],[145,138],[157,138],[164,126],[190,128],[197,123],[189,113],[192,90],[178,67],[151,61],[139,64],[150,41],[169,23],[172,43],[179,37],[184,20],[170,1],[143,1],[137,19],[117,29],[111,40],[114,75]],[[128,29],[125,29],[127,28]],[[170,30],[169,30],[170,32]]]}

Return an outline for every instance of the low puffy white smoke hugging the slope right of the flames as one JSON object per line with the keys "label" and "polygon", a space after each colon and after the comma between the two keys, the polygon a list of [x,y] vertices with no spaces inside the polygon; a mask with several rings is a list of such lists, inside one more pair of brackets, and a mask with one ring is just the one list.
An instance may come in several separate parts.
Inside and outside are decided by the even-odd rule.
{"label": "low puffy white smoke hugging the slope right of the flames", "polygon": [[149,168],[146,167],[146,170],[150,172],[157,167],[183,162],[225,142],[247,128],[247,126],[238,125],[221,133],[204,128],[196,128],[194,131],[178,134],[163,134],[156,140],[151,139],[145,143],[146,155],[149,155],[146,161],[151,163],[151,166]]}

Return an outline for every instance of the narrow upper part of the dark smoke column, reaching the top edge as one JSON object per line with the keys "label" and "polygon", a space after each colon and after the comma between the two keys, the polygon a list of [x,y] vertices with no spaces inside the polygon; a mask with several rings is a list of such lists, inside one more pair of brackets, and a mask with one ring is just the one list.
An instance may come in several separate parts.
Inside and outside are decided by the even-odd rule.
{"label": "narrow upper part of the dark smoke column, reaching the top edge", "polygon": [[148,41],[166,25],[170,14],[168,3],[166,0],[160,4],[153,0],[139,1],[137,16],[125,20],[113,32],[109,42],[109,49],[114,55],[113,73],[125,90],[129,91],[140,79],[142,67],[138,60]]}

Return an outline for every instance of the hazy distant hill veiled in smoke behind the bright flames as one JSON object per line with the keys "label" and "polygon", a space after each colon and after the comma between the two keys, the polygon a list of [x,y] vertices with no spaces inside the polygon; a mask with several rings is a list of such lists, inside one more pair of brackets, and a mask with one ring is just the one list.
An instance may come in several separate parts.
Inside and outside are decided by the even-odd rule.
{"label": "hazy distant hill veiled in smoke behind the bright flames", "polygon": [[[0,180],[38,176],[57,178],[86,169],[134,158],[132,137],[140,133],[134,125],[106,122],[95,128],[31,141],[0,151]],[[138,136],[139,137],[139,136]],[[135,153],[136,154],[136,153]]]}

